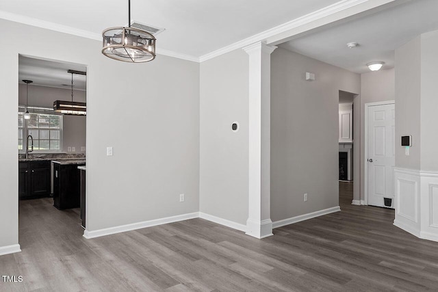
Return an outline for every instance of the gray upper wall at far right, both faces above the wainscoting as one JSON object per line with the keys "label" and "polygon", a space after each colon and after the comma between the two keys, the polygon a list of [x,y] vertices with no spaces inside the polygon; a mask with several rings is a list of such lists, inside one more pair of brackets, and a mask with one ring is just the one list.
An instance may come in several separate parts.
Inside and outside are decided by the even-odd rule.
{"label": "gray upper wall at far right, both faces above the wainscoting", "polygon": [[396,167],[438,171],[438,31],[396,49],[396,141],[412,135],[409,156],[396,144]]}

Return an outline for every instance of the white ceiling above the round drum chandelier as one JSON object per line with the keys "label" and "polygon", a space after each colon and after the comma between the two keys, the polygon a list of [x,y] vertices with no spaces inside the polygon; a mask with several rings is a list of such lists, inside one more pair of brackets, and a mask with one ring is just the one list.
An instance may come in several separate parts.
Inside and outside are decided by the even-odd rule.
{"label": "white ceiling above the round drum chandelier", "polygon": [[[131,0],[131,19],[166,29],[160,49],[201,57],[339,0]],[[0,11],[94,34],[128,23],[127,0],[0,1]]]}

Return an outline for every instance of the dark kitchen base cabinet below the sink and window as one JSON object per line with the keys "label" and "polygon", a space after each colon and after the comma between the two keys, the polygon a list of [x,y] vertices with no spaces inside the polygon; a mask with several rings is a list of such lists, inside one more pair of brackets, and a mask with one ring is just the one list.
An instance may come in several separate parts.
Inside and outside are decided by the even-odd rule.
{"label": "dark kitchen base cabinet below the sink and window", "polygon": [[50,196],[50,161],[18,163],[18,196],[20,199]]}

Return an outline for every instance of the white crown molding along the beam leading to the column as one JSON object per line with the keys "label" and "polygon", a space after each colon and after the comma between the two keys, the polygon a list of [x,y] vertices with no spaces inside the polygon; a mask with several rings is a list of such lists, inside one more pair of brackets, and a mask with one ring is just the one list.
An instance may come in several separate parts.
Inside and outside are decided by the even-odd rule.
{"label": "white crown molding along the beam leading to the column", "polygon": [[[343,10],[352,8],[354,6],[360,5],[365,2],[370,2],[373,0],[342,0],[337,3],[334,3],[332,5],[326,6],[320,10],[316,10],[314,12],[311,12],[309,14],[306,14],[304,16],[298,17],[294,19],[293,21],[289,21],[287,23],[283,23],[283,25],[279,25],[276,27],[273,27],[272,29],[268,29],[266,31],[263,31],[259,34],[255,34],[254,36],[250,36],[249,38],[245,38],[244,40],[240,40],[239,42],[235,42],[233,44],[230,44],[227,47],[223,47],[222,49],[218,49],[216,51],[212,51],[211,53],[207,53],[205,55],[202,55],[199,57],[200,62],[207,61],[209,59],[212,59],[214,57],[218,57],[220,55],[223,55],[225,53],[229,53],[231,51],[242,49],[244,47],[249,46],[250,44],[253,44],[255,42],[260,42],[263,40],[266,40],[267,38],[270,38],[272,36],[276,36],[277,34],[284,33],[285,31],[289,31],[290,29],[294,29],[296,27],[300,27],[303,25],[307,25],[308,23],[311,23],[313,21],[318,21],[318,19],[325,18],[327,16],[331,16],[333,14],[337,14],[339,12],[342,12]],[[394,1],[394,0],[387,0],[385,2]],[[379,4],[381,5],[381,4]]]}

